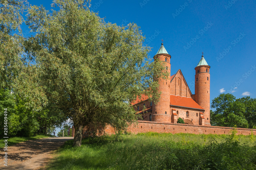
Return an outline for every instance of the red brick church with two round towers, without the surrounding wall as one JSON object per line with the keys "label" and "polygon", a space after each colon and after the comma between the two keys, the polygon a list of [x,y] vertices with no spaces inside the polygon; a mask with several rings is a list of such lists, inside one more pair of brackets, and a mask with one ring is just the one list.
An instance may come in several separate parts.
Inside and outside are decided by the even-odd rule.
{"label": "red brick church with two round towers, without the surrounding wall", "polygon": [[[164,62],[170,75],[170,59],[162,43],[154,59],[159,58]],[[196,64],[196,63],[195,63]],[[133,106],[137,114],[142,115],[143,121],[177,123],[180,117],[185,124],[205,125],[210,124],[210,66],[202,55],[195,67],[195,94],[192,94],[188,84],[179,69],[167,80],[159,80],[161,98],[155,104],[146,96],[137,98]],[[145,106],[146,109],[143,109]],[[140,119],[141,120],[141,119]]]}

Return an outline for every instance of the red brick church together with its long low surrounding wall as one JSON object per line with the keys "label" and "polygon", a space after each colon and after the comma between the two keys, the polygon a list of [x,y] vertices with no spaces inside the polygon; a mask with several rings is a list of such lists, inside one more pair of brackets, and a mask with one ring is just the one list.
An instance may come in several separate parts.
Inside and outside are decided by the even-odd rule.
{"label": "red brick church together with its long low surrounding wall", "polygon": [[[171,56],[163,43],[154,56],[154,59],[156,58],[164,63],[170,75]],[[210,66],[204,56],[195,67],[195,94],[191,93],[180,69],[167,80],[159,79],[158,83],[161,97],[157,104],[150,102],[145,95],[142,95],[141,99],[137,97],[132,103],[137,114],[141,114],[142,120],[138,120],[135,126],[129,126],[127,132],[133,134],[146,132],[227,134],[233,129],[210,124]],[[185,124],[177,124],[179,117]],[[236,130],[237,134],[243,135],[250,135],[251,130],[256,133],[255,129],[236,128]],[[115,133],[116,130],[111,125],[106,125],[105,128],[89,125],[83,129],[83,137]],[[72,127],[72,136],[74,136],[74,127]]]}

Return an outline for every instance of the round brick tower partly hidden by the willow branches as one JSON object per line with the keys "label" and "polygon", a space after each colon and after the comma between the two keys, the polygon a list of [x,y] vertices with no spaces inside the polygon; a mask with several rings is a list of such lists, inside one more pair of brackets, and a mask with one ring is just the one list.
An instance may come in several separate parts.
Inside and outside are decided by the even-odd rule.
{"label": "round brick tower partly hidden by the willow branches", "polygon": [[169,76],[167,80],[159,79],[159,87],[158,91],[162,92],[159,102],[154,104],[152,108],[152,121],[154,122],[171,122],[171,114],[170,114],[170,59],[171,56],[167,53],[162,43],[160,49],[154,56],[154,60],[159,58],[162,62],[164,62],[164,66],[168,70]]}

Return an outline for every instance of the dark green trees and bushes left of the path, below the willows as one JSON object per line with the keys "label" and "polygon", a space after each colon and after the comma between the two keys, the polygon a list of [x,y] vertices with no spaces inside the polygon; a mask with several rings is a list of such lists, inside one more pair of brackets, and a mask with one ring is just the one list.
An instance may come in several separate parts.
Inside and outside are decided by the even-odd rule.
{"label": "dark green trees and bushes left of the path, below the willows", "polygon": [[[53,105],[48,105],[40,111],[25,107],[25,102],[11,90],[0,89],[0,120],[4,120],[3,110],[7,108],[8,136],[34,136],[37,133],[51,134],[55,126],[60,126],[66,117]],[[4,127],[4,121],[0,121]],[[3,136],[4,131],[0,131]]]}

